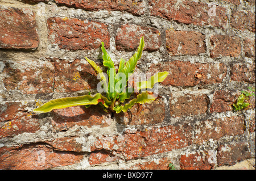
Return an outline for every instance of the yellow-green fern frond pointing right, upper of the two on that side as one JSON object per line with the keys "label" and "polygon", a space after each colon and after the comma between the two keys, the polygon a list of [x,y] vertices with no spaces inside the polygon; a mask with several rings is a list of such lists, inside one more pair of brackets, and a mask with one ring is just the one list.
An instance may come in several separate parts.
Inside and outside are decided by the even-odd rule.
{"label": "yellow-green fern frond pointing right, upper of the two on that side", "polygon": [[159,72],[153,75],[148,81],[137,82],[137,89],[152,89],[157,82],[163,82],[169,73],[167,71]]}

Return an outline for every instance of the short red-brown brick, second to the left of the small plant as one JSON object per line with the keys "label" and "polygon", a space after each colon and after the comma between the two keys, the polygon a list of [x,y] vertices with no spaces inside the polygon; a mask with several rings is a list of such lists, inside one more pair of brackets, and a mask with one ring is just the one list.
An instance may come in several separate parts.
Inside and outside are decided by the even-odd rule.
{"label": "short red-brown brick, second to the left of the small plant", "polygon": [[[207,95],[186,94],[170,96],[170,114],[172,117],[193,116],[207,113],[209,98]],[[184,111],[185,110],[185,111]]]}

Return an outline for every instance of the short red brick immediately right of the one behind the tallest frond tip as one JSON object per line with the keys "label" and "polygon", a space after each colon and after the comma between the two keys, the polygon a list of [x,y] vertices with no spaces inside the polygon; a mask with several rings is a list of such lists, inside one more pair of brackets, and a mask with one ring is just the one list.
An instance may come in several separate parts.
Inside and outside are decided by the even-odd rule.
{"label": "short red brick immediately right of the one behind the tallest frond tip", "polygon": [[171,55],[205,53],[205,35],[195,31],[166,31],[166,48]]}

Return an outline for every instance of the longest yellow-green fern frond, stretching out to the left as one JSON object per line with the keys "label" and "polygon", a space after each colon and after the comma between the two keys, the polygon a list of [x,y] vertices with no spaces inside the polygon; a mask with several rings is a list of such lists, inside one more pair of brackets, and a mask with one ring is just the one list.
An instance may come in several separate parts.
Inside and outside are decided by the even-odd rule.
{"label": "longest yellow-green fern frond, stretching out to the left", "polygon": [[112,103],[106,97],[102,96],[100,93],[97,93],[94,96],[84,95],[73,98],[61,98],[50,100],[49,102],[43,104],[43,106],[36,108],[34,112],[49,112],[55,109],[62,109],[72,106],[85,106],[85,105],[96,105],[102,103],[105,107],[109,107]]}

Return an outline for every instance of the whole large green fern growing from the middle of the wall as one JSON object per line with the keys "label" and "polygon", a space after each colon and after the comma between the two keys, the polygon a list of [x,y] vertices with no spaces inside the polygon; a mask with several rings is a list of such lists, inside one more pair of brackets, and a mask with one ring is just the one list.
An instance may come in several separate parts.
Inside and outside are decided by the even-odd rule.
{"label": "whole large green fern growing from the middle of the wall", "polygon": [[[90,66],[100,79],[100,83],[97,88],[102,90],[95,95],[84,95],[72,98],[61,98],[50,100],[43,104],[43,106],[36,108],[34,112],[49,112],[54,109],[67,108],[72,106],[85,106],[88,108],[90,105],[100,104],[106,112],[126,112],[129,108],[135,104],[152,103],[158,95],[151,91],[142,91],[146,89],[152,89],[155,83],[162,82],[167,77],[168,72],[160,72],[153,75],[147,81],[141,81],[134,83],[133,86],[129,86],[129,76],[133,74],[136,68],[138,60],[142,56],[144,48],[144,39],[140,39],[137,52],[129,59],[125,61],[121,58],[118,71],[115,71],[114,62],[111,60],[109,54],[104,48],[104,43],[101,43],[103,65],[107,68],[106,73],[92,60],[85,57]],[[97,89],[97,90],[98,90]],[[141,93],[137,93],[141,91]],[[105,93],[105,95],[102,94]],[[135,97],[131,98],[134,94]]]}

